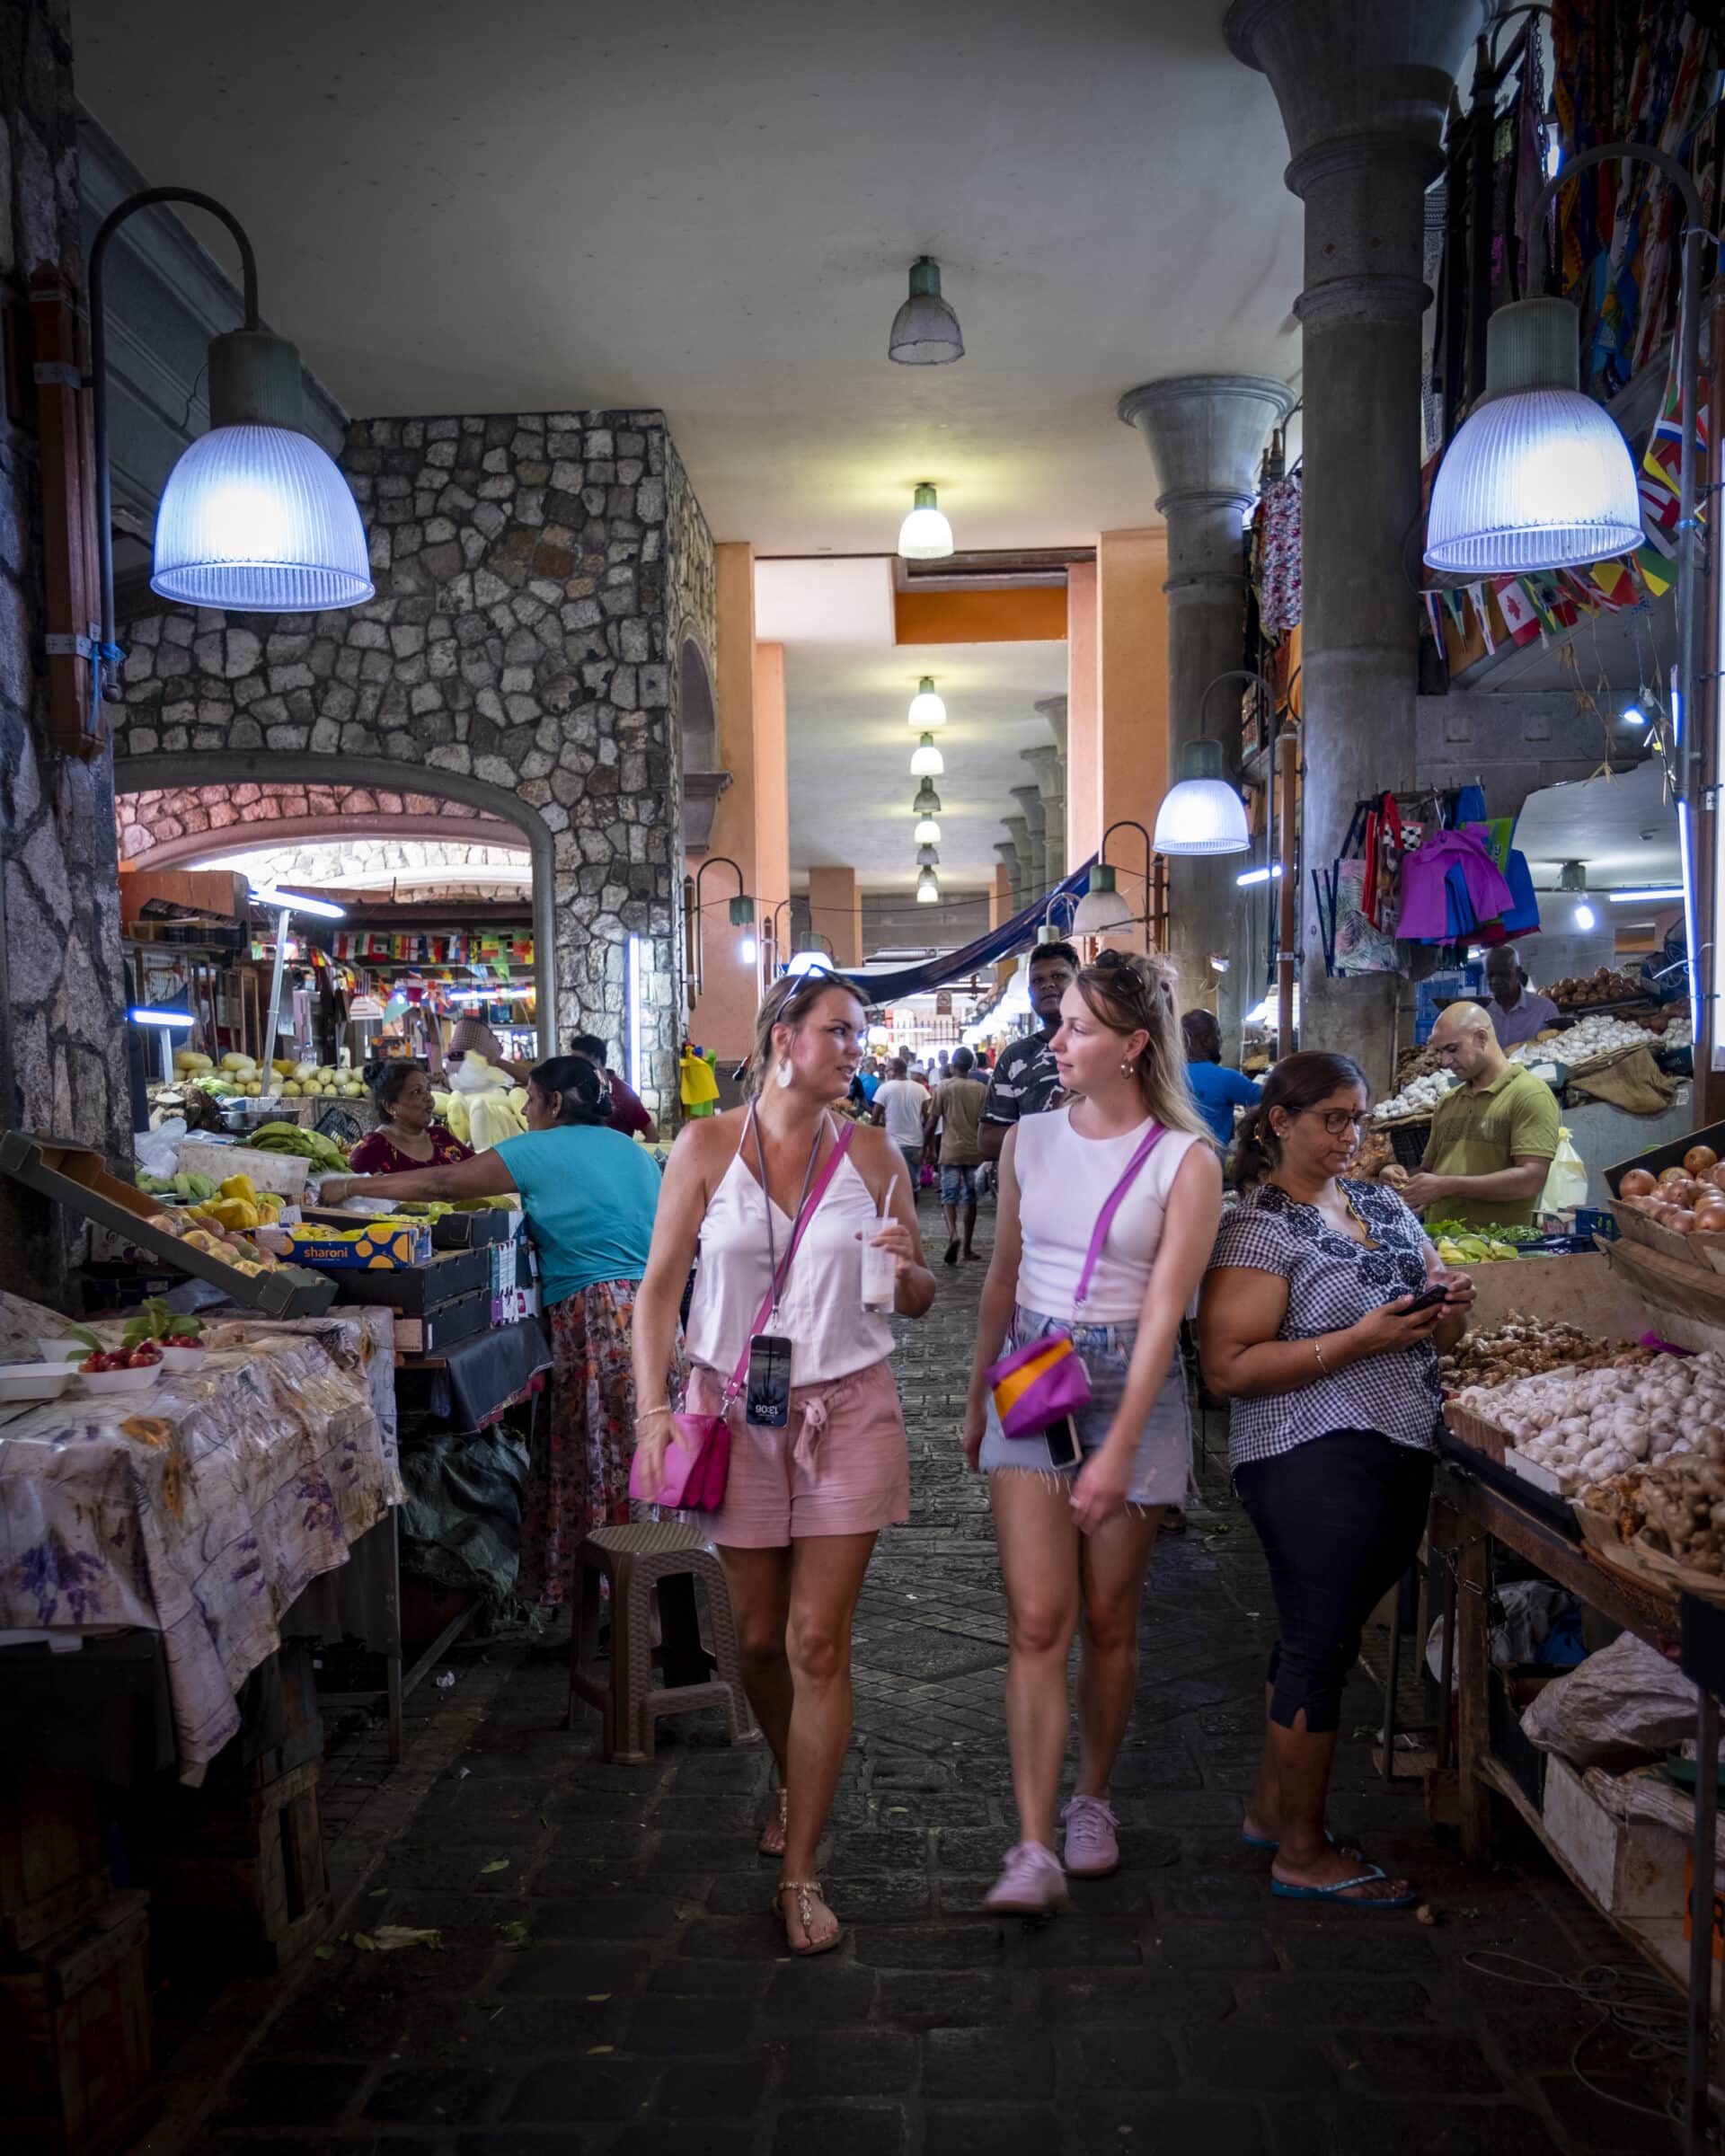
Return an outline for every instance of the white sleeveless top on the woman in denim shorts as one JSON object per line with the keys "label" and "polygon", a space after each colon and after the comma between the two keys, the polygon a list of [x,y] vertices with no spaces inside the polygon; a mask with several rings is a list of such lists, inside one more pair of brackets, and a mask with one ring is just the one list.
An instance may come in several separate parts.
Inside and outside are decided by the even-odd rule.
{"label": "white sleeveless top on the woman in denim shorts", "polygon": [[[1072,1128],[1067,1106],[1022,1115],[1013,1130],[1018,1222],[1024,1244],[1018,1259],[1018,1302],[1026,1311],[1070,1322],[1072,1294],[1085,1270],[1091,1233],[1149,1121],[1121,1138],[1082,1138]],[[1171,1130],[1138,1169],[1095,1261],[1082,1304],[1087,1324],[1126,1326],[1143,1315],[1169,1190],[1182,1160],[1197,1143],[1190,1132]]]}

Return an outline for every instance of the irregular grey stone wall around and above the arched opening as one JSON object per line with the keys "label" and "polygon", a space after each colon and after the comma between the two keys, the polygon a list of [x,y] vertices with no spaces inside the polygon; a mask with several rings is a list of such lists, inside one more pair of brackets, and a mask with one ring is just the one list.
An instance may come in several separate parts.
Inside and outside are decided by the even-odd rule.
{"label": "irregular grey stone wall around and above the arched opening", "polygon": [[[481,780],[554,849],[558,1033],[625,1037],[677,1100],[681,755],[671,608],[712,649],[712,539],[660,412],[371,418],[343,453],[377,595],[326,614],[170,608],[123,627],[116,755],[220,785],[233,750]],[[677,511],[673,515],[673,498]],[[196,770],[185,770],[185,759]],[[207,759],[207,763],[205,763]],[[248,770],[248,778],[257,772]],[[550,1044],[546,1044],[550,1046]]]}

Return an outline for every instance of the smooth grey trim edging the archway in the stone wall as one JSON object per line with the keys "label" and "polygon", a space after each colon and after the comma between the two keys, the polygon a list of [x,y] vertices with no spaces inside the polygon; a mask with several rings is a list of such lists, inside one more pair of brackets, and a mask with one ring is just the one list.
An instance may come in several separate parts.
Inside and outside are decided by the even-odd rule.
{"label": "smooth grey trim edging the archway in the stone wall", "polygon": [[[310,780],[328,787],[332,761],[310,750],[276,748],[201,748],[181,755],[116,757],[114,793],[144,793],[172,787],[242,787],[282,780]],[[341,757],[341,783],[399,793],[403,770],[386,757]],[[416,793],[464,802],[481,815],[513,826],[533,856],[533,977],[537,990],[539,1046],[546,1054],[563,1039],[556,998],[556,843],[539,811],[509,787],[464,772],[420,770]],[[270,826],[259,826],[267,832]],[[231,839],[231,832],[222,834]],[[205,852],[209,843],[205,843]]]}

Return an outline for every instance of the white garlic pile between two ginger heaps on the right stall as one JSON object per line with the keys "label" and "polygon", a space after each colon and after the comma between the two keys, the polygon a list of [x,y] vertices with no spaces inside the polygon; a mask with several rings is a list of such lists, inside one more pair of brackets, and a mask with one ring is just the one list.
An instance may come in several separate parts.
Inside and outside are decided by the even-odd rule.
{"label": "white garlic pile between two ginger heaps on the right stall", "polygon": [[1565,1369],[1473,1386],[1462,1406],[1559,1479],[1563,1496],[1671,1453],[1725,1455],[1725,1356]]}

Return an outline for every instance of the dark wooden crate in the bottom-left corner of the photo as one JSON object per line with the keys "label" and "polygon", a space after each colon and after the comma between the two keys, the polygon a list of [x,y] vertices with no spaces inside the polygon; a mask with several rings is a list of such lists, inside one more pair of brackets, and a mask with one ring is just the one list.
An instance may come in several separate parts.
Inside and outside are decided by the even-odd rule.
{"label": "dark wooden crate in the bottom-left corner of the photo", "polygon": [[54,2156],[127,2147],[151,2081],[149,1895],[0,1964],[0,2145]]}

